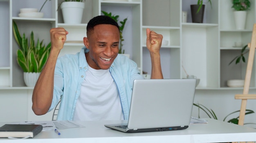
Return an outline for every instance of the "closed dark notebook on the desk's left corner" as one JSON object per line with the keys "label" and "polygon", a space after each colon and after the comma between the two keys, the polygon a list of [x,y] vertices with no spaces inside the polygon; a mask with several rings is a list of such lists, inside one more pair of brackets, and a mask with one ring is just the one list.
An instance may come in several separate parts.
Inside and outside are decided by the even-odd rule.
{"label": "closed dark notebook on the desk's left corner", "polygon": [[42,125],[31,125],[31,124],[5,124],[0,127],[0,138],[24,138],[35,137],[39,132],[43,130]]}

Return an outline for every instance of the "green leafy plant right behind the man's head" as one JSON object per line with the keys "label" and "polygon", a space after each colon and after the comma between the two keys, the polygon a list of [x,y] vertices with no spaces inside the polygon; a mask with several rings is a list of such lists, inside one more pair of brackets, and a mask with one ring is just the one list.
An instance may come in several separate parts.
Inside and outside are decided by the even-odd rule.
{"label": "green leafy plant right behind the man's head", "polygon": [[[119,15],[112,15],[112,13],[107,13],[106,11],[101,11],[104,15],[111,17],[113,20],[115,20],[117,23],[119,21]],[[121,26],[119,26],[119,30],[120,30],[120,44],[119,44],[119,54],[124,54],[124,50],[122,49],[123,44],[122,42],[124,41],[124,37],[123,37],[123,30],[124,30],[124,26],[126,24],[127,18],[125,18],[123,21],[120,21]]]}

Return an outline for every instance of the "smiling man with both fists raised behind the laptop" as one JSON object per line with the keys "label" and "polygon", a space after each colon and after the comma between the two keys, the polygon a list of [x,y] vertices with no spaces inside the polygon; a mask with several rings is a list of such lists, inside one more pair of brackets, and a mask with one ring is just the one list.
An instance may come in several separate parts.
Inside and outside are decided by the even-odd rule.
{"label": "smiling man with both fists raised behind the laptop", "polygon": [[[151,78],[162,79],[159,50],[162,35],[147,31],[152,62]],[[132,84],[143,79],[135,62],[118,54],[119,26],[108,16],[88,22],[86,48],[57,59],[68,32],[50,30],[52,49],[32,96],[36,115],[51,111],[61,100],[58,120],[128,119]]]}

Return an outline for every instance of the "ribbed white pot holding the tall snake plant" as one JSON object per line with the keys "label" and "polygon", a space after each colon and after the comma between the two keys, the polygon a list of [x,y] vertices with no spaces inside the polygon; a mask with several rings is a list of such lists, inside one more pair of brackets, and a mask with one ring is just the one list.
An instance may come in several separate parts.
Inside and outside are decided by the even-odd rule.
{"label": "ribbed white pot holding the tall snake plant", "polygon": [[40,72],[24,72],[24,82],[27,87],[34,87],[36,85],[36,81],[40,75]]}

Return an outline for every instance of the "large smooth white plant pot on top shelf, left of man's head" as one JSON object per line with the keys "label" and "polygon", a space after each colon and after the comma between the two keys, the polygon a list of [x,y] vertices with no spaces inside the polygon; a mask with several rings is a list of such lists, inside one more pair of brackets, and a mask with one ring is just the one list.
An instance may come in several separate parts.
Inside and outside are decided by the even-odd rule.
{"label": "large smooth white plant pot on top shelf, left of man's head", "polygon": [[64,23],[81,24],[84,6],[84,2],[62,2],[61,11]]}

